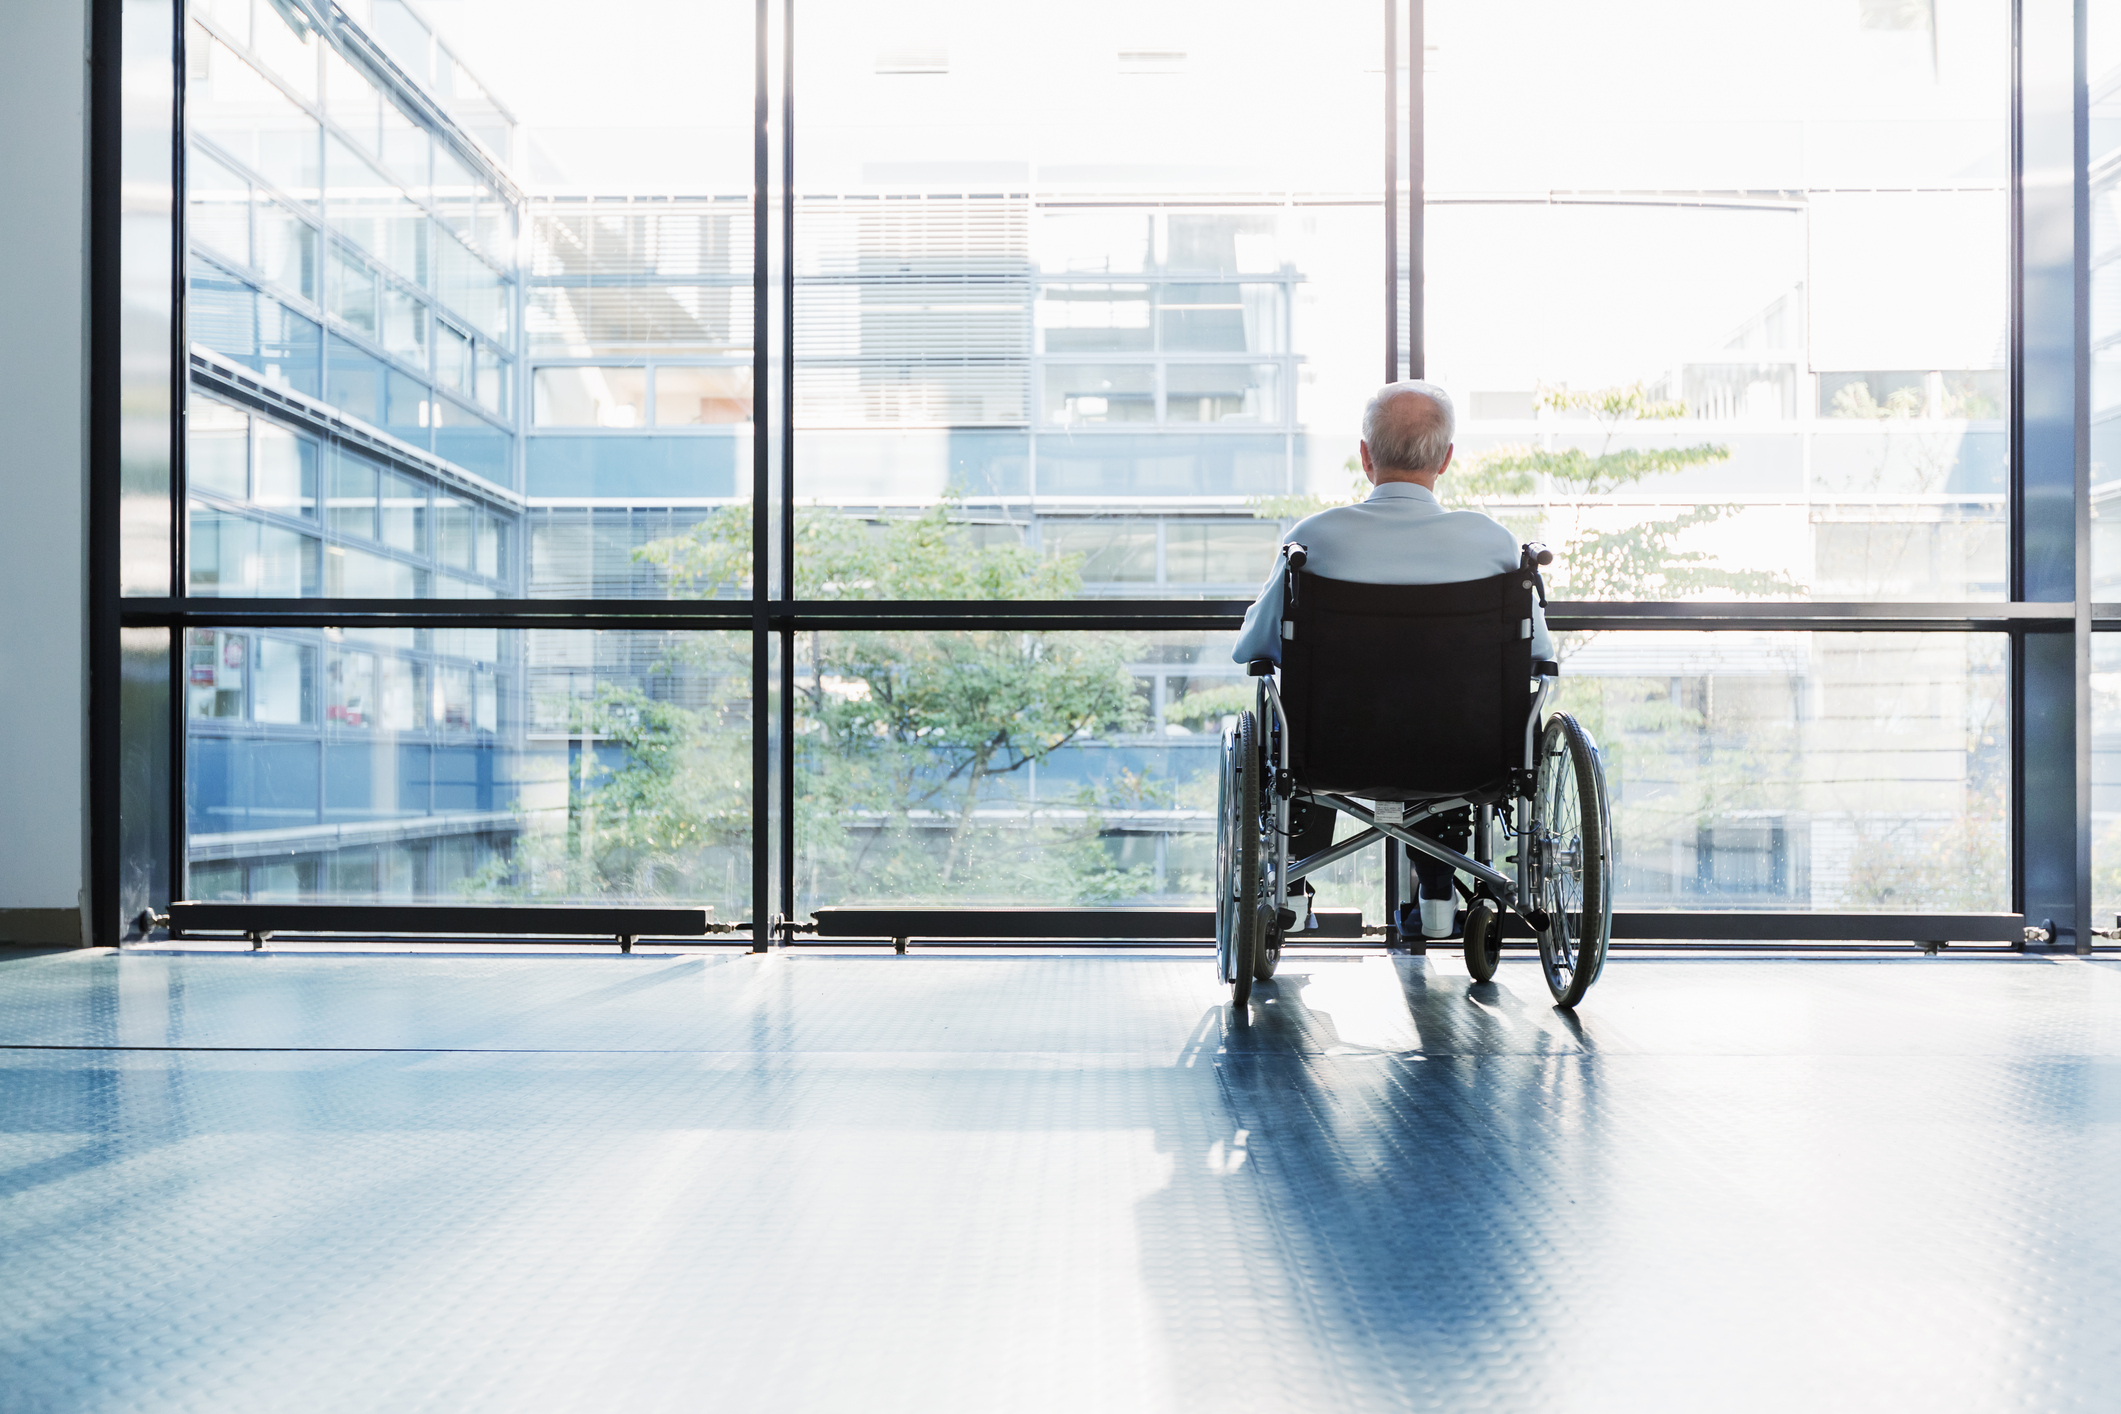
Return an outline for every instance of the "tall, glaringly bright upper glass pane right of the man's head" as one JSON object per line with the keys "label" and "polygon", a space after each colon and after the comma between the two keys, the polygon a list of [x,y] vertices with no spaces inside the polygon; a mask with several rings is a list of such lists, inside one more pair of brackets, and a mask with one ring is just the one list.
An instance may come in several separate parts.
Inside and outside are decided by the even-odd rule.
{"label": "tall, glaringly bright upper glass pane right of the man's head", "polygon": [[1563,598],[2002,598],[2011,6],[1425,17],[1447,500]]}

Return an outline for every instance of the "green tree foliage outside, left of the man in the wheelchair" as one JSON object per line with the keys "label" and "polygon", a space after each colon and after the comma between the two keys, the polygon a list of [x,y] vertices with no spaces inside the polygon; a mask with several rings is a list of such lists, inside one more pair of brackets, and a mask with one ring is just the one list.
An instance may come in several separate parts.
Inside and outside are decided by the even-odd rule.
{"label": "green tree foliage outside, left of the man in the wheelchair", "polygon": [[[812,600],[1065,600],[1080,558],[976,545],[952,507],[855,517],[802,509],[797,591]],[[685,598],[751,585],[751,507],[717,511],[655,541]],[[1105,842],[1114,808],[1160,803],[1141,774],[1056,786],[1031,776],[1054,753],[1137,729],[1145,702],[1124,634],[814,632],[795,664],[795,848],[808,899],[1077,899],[1139,895],[1150,869]],[[658,672],[702,681],[713,647],[685,640]],[[721,678],[715,678],[717,683]],[[566,848],[547,831],[526,848],[515,888],[568,892],[681,886],[687,859],[749,839],[749,687],[723,683],[704,706],[602,689],[583,729],[619,765],[568,789]],[[488,880],[488,884],[496,884]]]}

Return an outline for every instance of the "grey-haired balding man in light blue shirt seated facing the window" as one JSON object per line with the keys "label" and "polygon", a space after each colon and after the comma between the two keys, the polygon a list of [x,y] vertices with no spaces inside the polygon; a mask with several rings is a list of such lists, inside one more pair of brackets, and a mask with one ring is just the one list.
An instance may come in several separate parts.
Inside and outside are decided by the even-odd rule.
{"label": "grey-haired balding man in light blue shirt seated facing the window", "polygon": [[[1478,511],[1447,511],[1436,498],[1436,481],[1451,469],[1453,430],[1451,394],[1436,384],[1408,379],[1379,388],[1362,413],[1362,475],[1377,490],[1351,507],[1307,515],[1283,543],[1311,551],[1304,568],[1313,575],[1364,585],[1449,585],[1514,570],[1521,553],[1517,536]],[[1546,615],[1533,604],[1531,657],[1553,655]],[[1237,636],[1230,657],[1241,664],[1260,657],[1281,661],[1279,560],[1245,613],[1245,632]],[[1438,664],[1442,672],[1449,668]],[[1408,721],[1408,729],[1419,731],[1421,723]],[[1292,859],[1330,846],[1338,818],[1330,810],[1300,814],[1304,818],[1290,818]],[[1463,850],[1466,812],[1438,816],[1421,833]],[[1451,867],[1415,854],[1415,871],[1421,876],[1423,937],[1451,937],[1457,918]]]}

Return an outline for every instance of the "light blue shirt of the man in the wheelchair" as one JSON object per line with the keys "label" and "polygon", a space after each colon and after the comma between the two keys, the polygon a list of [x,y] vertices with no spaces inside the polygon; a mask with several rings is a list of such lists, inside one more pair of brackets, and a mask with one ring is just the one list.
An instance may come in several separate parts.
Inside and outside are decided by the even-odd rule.
{"label": "light blue shirt of the man in the wheelchair", "polygon": [[[1478,511],[1444,511],[1436,492],[1413,481],[1385,481],[1366,500],[1334,507],[1296,522],[1283,545],[1302,545],[1304,568],[1357,585],[1455,585],[1514,570],[1517,536]],[[1531,657],[1555,655],[1546,611],[1531,602]],[[1281,661],[1281,558],[1268,570],[1260,598],[1245,611],[1245,632],[1230,653],[1241,664],[1256,657]]]}

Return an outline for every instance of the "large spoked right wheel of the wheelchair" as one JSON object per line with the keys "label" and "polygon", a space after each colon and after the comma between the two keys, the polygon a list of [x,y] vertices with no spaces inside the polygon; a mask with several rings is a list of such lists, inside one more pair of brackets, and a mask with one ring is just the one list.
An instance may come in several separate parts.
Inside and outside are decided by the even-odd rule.
{"label": "large spoked right wheel of the wheelchair", "polygon": [[1606,967],[1612,935],[1612,814],[1591,733],[1567,712],[1548,717],[1540,738],[1531,850],[1546,990],[1574,1007]]}

